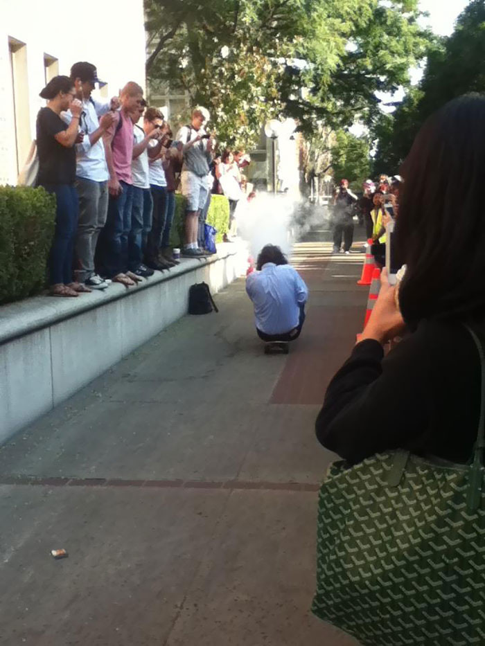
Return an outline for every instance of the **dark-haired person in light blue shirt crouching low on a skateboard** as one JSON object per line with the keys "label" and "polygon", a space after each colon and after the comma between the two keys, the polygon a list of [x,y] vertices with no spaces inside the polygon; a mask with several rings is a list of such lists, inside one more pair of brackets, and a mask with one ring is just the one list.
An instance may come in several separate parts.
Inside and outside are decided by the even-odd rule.
{"label": "dark-haired person in light blue shirt crouching low on a skateboard", "polygon": [[258,337],[268,343],[298,339],[305,321],[308,287],[279,248],[263,246],[246,291],[254,305]]}

